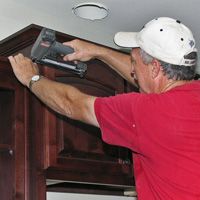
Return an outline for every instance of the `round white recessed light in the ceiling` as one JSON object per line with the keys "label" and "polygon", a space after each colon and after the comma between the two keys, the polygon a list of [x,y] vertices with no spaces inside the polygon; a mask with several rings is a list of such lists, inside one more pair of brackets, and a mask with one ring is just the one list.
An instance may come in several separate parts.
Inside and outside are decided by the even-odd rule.
{"label": "round white recessed light in the ceiling", "polygon": [[83,19],[101,20],[107,17],[108,8],[100,3],[82,3],[72,8],[73,13]]}

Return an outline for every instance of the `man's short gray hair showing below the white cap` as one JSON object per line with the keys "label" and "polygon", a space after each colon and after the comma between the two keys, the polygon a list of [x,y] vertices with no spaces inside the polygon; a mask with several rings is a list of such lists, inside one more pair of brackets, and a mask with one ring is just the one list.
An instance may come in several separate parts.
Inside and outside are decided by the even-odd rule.
{"label": "man's short gray hair showing below the white cap", "polygon": [[[145,65],[150,64],[153,61],[153,59],[156,59],[156,58],[150,56],[148,53],[146,53],[142,49],[140,49],[140,55],[141,55],[142,61]],[[187,56],[185,56],[185,58],[197,60],[197,53],[192,52],[192,53],[188,54]],[[193,65],[193,66],[173,65],[173,64],[161,61],[161,60],[158,60],[158,61],[160,62],[160,65],[162,66],[164,75],[166,75],[168,79],[192,80],[195,77],[196,65]]]}

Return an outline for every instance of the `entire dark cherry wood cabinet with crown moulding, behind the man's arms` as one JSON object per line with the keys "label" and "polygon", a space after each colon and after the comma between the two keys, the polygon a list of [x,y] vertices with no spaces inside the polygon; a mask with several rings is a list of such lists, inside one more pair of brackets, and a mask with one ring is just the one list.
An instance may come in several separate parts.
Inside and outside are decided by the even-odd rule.
{"label": "entire dark cherry wood cabinet with crown moulding, behind the man's arms", "polygon": [[[6,57],[19,52],[29,56],[40,30],[31,25],[0,46],[4,56],[0,60],[0,176],[4,179],[0,193],[5,200],[44,200],[48,190],[123,194],[133,189],[128,149],[104,143],[96,127],[55,113],[14,77]],[[74,39],[61,33],[57,37],[60,42]],[[47,66],[40,70],[52,80],[95,96],[127,90],[127,83],[104,63],[92,60],[87,65],[84,78]],[[57,183],[46,186],[48,181]]]}

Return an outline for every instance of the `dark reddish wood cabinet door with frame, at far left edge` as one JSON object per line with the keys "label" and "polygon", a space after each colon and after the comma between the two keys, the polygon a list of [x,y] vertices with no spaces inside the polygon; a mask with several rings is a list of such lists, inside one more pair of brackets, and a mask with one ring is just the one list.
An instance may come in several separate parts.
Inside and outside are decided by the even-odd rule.
{"label": "dark reddish wood cabinet door with frame, at far left edge", "polygon": [[9,63],[1,59],[0,194],[2,200],[23,200],[26,196],[25,187],[28,188],[24,97],[24,89],[14,78]]}

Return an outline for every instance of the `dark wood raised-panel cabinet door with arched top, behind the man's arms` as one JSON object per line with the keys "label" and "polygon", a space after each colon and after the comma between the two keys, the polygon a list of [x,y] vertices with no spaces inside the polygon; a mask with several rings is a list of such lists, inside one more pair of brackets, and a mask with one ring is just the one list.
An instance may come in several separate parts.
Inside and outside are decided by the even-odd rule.
{"label": "dark wood raised-panel cabinet door with arched top, behind the man's arms", "polygon": [[[82,79],[61,71],[50,71],[46,70],[46,75],[90,95],[113,96],[124,92],[124,80],[99,61],[88,63],[87,75]],[[39,106],[36,101],[33,100],[33,105]],[[40,107],[39,112],[42,117],[38,113],[35,116],[34,121],[39,123],[34,132],[38,133],[39,148],[43,140],[47,179],[133,186],[129,150],[104,143],[96,127],[60,116],[46,107]]]}

